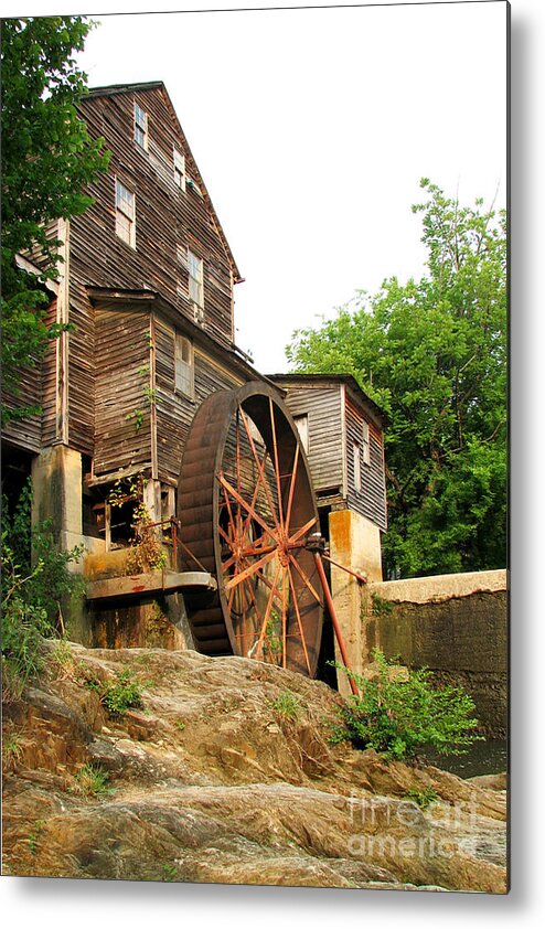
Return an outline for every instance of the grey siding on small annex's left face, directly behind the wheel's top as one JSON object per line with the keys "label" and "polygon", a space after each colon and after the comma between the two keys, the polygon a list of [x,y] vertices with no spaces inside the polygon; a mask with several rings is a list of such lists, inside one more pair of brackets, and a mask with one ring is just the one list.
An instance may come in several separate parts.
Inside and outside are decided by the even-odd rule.
{"label": "grey siding on small annex's left face, directly behind the wheel's top", "polygon": [[308,416],[308,459],[314,491],[343,493],[342,416],[340,386],[291,386],[286,405],[292,416]]}

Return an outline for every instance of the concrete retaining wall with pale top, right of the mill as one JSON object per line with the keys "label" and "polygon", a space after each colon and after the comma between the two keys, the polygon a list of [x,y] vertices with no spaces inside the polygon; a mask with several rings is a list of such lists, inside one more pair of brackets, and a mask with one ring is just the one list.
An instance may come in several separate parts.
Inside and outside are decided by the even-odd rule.
{"label": "concrete retaining wall with pale top, right of the mill", "polygon": [[427,665],[439,684],[461,685],[481,730],[505,736],[507,723],[506,573],[442,575],[370,584],[365,656],[374,648],[412,668]]}

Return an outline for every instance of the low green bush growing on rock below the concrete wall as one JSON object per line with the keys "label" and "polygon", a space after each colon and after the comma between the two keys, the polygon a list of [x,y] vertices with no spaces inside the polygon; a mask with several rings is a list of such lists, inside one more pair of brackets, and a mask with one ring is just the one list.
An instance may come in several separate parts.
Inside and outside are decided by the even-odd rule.
{"label": "low green bush growing on rock below the concrete wall", "polygon": [[341,708],[333,743],[349,739],[356,748],[374,748],[402,759],[414,758],[425,747],[440,755],[462,755],[481,738],[474,732],[478,720],[471,716],[473,701],[461,687],[432,687],[425,668],[409,671],[407,681],[396,679],[380,650],[373,658],[378,666],[376,681],[344,669],[360,695]]}

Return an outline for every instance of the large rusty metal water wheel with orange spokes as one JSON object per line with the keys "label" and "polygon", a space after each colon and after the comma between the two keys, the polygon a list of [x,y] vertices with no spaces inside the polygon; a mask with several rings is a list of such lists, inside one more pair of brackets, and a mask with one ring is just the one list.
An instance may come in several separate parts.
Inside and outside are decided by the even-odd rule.
{"label": "large rusty metal water wheel with orange spokes", "polygon": [[[314,676],[322,632],[319,578],[304,538],[319,530],[309,466],[274,387],[220,391],[199,408],[178,487],[181,542],[217,579],[188,598],[200,651]],[[184,554],[182,569],[194,570]]]}

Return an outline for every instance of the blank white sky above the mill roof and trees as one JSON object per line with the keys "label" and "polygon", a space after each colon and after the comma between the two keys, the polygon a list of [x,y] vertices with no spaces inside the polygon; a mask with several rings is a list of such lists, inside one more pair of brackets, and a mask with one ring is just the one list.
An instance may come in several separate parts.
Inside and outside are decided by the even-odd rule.
{"label": "blank white sky above the mill roof and trees", "polygon": [[263,373],[287,369],[295,328],[421,273],[420,177],[466,202],[500,185],[504,204],[504,2],[95,19],[89,86],[167,85],[245,278],[236,341]]}

